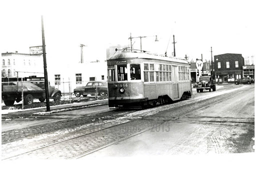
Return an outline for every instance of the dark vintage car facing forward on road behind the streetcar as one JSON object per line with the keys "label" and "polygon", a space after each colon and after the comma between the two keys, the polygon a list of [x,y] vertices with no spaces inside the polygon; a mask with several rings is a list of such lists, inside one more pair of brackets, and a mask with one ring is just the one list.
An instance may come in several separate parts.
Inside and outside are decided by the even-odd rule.
{"label": "dark vintage car facing forward on road behind the streetcar", "polygon": [[211,78],[211,76],[200,76],[199,77],[199,82],[196,84],[196,91],[197,92],[202,92],[203,89],[211,91],[216,90],[216,85],[214,79]]}

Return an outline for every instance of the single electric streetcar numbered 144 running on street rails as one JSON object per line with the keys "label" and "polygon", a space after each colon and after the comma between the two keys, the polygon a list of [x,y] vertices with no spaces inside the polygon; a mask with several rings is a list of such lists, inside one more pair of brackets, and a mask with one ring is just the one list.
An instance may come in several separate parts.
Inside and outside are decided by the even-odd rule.
{"label": "single electric streetcar numbered 144 running on street rails", "polygon": [[185,59],[123,51],[107,59],[107,75],[109,107],[151,107],[192,95]]}

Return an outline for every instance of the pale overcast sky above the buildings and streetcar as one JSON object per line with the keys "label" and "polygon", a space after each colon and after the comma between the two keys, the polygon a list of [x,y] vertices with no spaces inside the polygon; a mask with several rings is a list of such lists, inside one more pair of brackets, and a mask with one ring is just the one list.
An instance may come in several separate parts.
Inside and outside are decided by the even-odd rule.
{"label": "pale overcast sky above the buildings and streetcar", "polygon": [[[171,55],[174,34],[178,57],[208,60],[211,46],[213,55],[256,55],[253,0],[1,0],[0,6],[0,52],[41,45],[43,15],[47,64],[78,62],[80,44],[87,45],[84,60],[104,60],[109,44],[129,45],[130,33],[148,36],[142,49],[152,53]],[[132,42],[140,48],[139,38]]]}

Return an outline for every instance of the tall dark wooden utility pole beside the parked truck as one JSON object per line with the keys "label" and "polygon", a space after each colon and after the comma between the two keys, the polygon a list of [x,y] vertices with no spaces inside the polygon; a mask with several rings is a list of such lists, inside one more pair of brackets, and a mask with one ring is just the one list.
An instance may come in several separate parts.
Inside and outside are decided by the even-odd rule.
{"label": "tall dark wooden utility pole beside the parked truck", "polygon": [[50,111],[49,87],[48,87],[48,76],[47,76],[47,64],[46,64],[46,52],[45,52],[44,28],[43,28],[43,16],[42,15],[41,15],[41,25],[42,25],[42,55],[43,55],[43,72],[44,72],[46,111]]}

